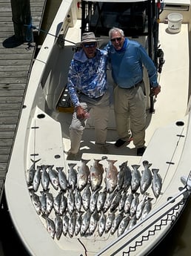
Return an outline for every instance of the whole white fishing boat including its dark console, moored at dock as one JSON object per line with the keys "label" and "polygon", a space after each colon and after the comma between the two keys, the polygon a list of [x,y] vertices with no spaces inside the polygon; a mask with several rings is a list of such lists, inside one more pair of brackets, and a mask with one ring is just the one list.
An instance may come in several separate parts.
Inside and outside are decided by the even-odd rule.
{"label": "whole white fishing boat including its dark console, moored at dock", "polygon": [[[190,9],[190,0],[61,2],[33,62],[5,181],[7,206],[13,225],[30,255],[148,255],[164,239],[184,210],[191,189]],[[172,20],[170,27],[170,21],[167,21],[170,13],[181,13],[183,20],[178,24],[175,23],[176,19]],[[148,95],[147,149],[142,157],[137,157],[133,142],[125,148],[114,147],[118,135],[111,105],[107,133],[109,154],[102,155],[96,151],[93,120],[90,118],[81,141],[81,154],[78,160],[69,161],[65,152],[70,149],[68,128],[73,108],[67,90],[63,89],[67,84],[73,48],[81,41],[81,32],[85,30],[94,31],[102,39],[99,46],[103,47],[109,40],[108,30],[113,26],[121,27],[126,36],[141,42],[158,66],[161,93],[156,99],[149,96],[147,72],[144,74]],[[173,28],[177,31],[173,31]],[[112,91],[110,70],[108,83]],[[161,193],[155,197],[152,186],[147,190],[149,197],[153,198],[150,201],[151,211],[119,236],[117,231],[100,235],[96,228],[93,234],[87,230],[85,234],[69,235],[62,232],[61,237],[57,238],[55,233],[51,237],[42,210],[37,213],[33,204],[33,186],[27,184],[28,170],[33,161],[38,160],[36,170],[37,165],[53,165],[54,169],[63,167],[68,175],[69,163],[76,163],[77,168],[81,166],[81,159],[90,160],[87,163],[90,167],[96,159],[101,160],[100,163],[107,168],[106,158],[117,160],[115,166],[118,171],[126,161],[131,169],[132,165],[140,165],[138,170],[142,171],[143,162],[148,161],[152,164],[150,169],[159,170]],[[104,179],[102,186],[105,186]],[[56,190],[51,184],[49,189],[55,199],[60,189]],[[35,192],[40,198],[41,191],[43,188],[40,184]],[[141,201],[144,195],[140,188],[137,192]],[[68,191],[64,195],[68,197]],[[84,217],[82,207],[81,211]],[[117,209],[115,216],[118,213]],[[104,214],[108,218],[110,209]],[[124,216],[127,214],[124,212]],[[54,223],[56,210],[52,209],[47,217]],[[60,217],[62,220],[63,215]]]}

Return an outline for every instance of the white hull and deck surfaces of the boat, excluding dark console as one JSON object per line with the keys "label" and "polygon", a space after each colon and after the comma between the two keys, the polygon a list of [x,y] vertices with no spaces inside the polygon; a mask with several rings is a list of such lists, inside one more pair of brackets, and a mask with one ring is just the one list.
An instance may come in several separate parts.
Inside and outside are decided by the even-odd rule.
{"label": "white hull and deck surfaces of the boat, excluding dark console", "polygon": [[[30,255],[147,255],[170,231],[190,197],[191,122],[190,102],[188,101],[189,55],[187,55],[189,53],[190,11],[188,10],[184,15],[184,24],[178,34],[170,34],[167,31],[168,25],[165,18],[169,10],[164,10],[161,14],[158,35],[161,45],[167,50],[165,52],[167,68],[164,65],[160,83],[165,88],[163,89],[162,86],[161,96],[158,95],[155,99],[154,114],[150,113],[151,103],[147,96],[147,150],[144,155],[135,156],[133,142],[121,150],[114,147],[117,134],[112,105],[107,141],[109,154],[104,155],[96,151],[93,140],[93,120],[89,119],[81,142],[81,155],[78,160],[70,161],[67,160],[66,152],[70,148],[69,126],[73,107],[71,105],[63,107],[63,105],[58,105],[58,102],[60,99],[64,102],[68,99],[67,91],[63,91],[63,88],[67,84],[67,71],[73,57],[73,48],[81,40],[79,4],[70,0],[61,2],[50,31],[34,60],[5,181],[7,206],[13,225]],[[104,35],[102,40],[104,45],[108,37]],[[139,40],[144,44],[147,42],[145,36],[140,37]],[[184,50],[181,51],[181,56],[178,56],[175,45],[172,43],[169,45],[172,40],[183,44]],[[174,53],[177,55],[174,56]],[[178,61],[173,62],[176,57]],[[181,68],[179,68],[180,65]],[[147,81],[147,77],[144,79]],[[108,70],[108,80],[110,91],[113,91],[110,70]],[[180,81],[184,89],[178,86]],[[149,85],[147,86],[149,90]],[[180,96],[180,92],[184,103],[181,99],[175,98]],[[68,179],[70,164],[75,164],[76,170],[79,170],[81,159],[89,160],[87,166],[90,169],[95,160],[100,160],[104,168],[102,188],[106,186],[105,175],[109,163],[107,160],[116,160],[115,166],[118,171],[121,169],[121,164],[127,161],[132,174],[133,165],[140,165],[139,170],[144,171],[144,161],[151,163],[153,169],[159,170],[162,180],[161,192],[157,197],[155,197],[151,183],[147,189],[149,197],[152,198],[152,209],[144,218],[136,220],[136,223],[120,236],[117,230],[114,234],[104,231],[100,235],[98,226],[91,234],[89,231],[84,233],[81,231],[78,234],[75,232],[64,234],[62,231],[60,237],[56,237],[56,232],[53,232],[51,236],[48,218],[53,220],[55,225],[56,216],[59,215],[63,220],[64,213],[56,214],[56,206],[50,214],[47,214],[47,211],[44,214],[41,206],[39,211],[36,209],[37,203],[33,202],[33,195],[37,194],[41,203],[44,187],[40,183],[37,191],[34,191],[33,181],[30,183],[27,180],[29,170],[34,168],[36,171],[37,166],[64,168]],[[49,174],[50,171],[47,173]],[[68,180],[67,182],[70,187]],[[55,200],[63,189],[60,184],[54,187],[50,182],[47,191],[53,195]],[[130,194],[131,190],[126,192]],[[80,193],[82,195],[83,191]],[[137,193],[141,201],[144,194],[141,193],[140,188]],[[64,191],[64,196],[69,204],[70,188]],[[68,207],[66,212],[71,218]],[[84,217],[87,210],[81,206],[81,211]],[[116,211],[115,216],[118,213],[119,211]],[[110,209],[104,211],[104,214],[108,217]],[[100,215],[101,213],[99,217]],[[123,213],[123,215],[127,214]]]}

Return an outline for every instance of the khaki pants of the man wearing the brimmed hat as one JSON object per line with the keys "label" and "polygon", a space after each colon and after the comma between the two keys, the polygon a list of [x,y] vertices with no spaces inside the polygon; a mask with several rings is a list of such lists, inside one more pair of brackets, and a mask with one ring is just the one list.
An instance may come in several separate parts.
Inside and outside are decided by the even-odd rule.
{"label": "khaki pants of the man wearing the brimmed hat", "polygon": [[[104,145],[107,138],[107,122],[110,111],[110,93],[107,91],[101,99],[91,99],[84,94],[79,96],[80,105],[86,112],[91,111],[94,119],[96,144]],[[77,154],[80,148],[81,137],[86,126],[87,119],[80,120],[73,113],[73,119],[70,125],[70,152]]]}

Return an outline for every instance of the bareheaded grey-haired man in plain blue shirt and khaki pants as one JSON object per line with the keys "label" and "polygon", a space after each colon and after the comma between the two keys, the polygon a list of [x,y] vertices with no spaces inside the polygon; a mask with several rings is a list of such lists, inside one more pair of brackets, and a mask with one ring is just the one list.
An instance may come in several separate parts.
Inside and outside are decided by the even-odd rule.
{"label": "bareheaded grey-haired man in plain blue shirt and khaki pants", "polygon": [[115,146],[120,148],[127,145],[133,137],[137,155],[141,156],[145,150],[146,128],[143,66],[147,68],[152,93],[155,96],[161,91],[161,86],[157,82],[157,70],[144,47],[138,42],[125,38],[123,30],[113,27],[109,31],[109,36],[110,43],[107,45],[107,51],[116,84],[114,110],[119,137]]}

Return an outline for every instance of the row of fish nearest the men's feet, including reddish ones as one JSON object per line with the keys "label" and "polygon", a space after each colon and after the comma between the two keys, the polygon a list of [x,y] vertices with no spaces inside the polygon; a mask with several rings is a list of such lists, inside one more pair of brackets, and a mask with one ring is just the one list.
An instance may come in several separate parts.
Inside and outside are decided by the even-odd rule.
{"label": "row of fish nearest the men's feet, including reddish ones", "polygon": [[158,174],[159,170],[153,168],[150,171],[152,164],[147,160],[143,161],[144,170],[142,174],[138,171],[140,165],[132,165],[133,170],[131,170],[126,161],[119,166],[118,171],[118,168],[114,165],[116,160],[107,160],[108,167],[105,168],[105,178],[103,177],[104,167],[99,163],[101,160],[94,160],[90,168],[87,165],[89,161],[81,160],[81,166],[78,166],[78,171],[75,168],[76,163],[69,163],[67,175],[63,171],[63,167],[56,167],[55,170],[53,165],[41,165],[35,168],[38,160],[33,161],[33,165],[27,170],[27,186],[33,186],[33,190],[38,191],[41,183],[43,190],[47,191],[51,183],[56,190],[60,188],[63,191],[67,191],[68,188],[73,190],[78,188],[79,191],[82,191],[87,186],[87,183],[90,183],[92,191],[96,191],[101,187],[104,179],[105,189],[108,193],[112,193],[115,189],[127,191],[129,188],[135,193],[140,188],[141,194],[144,194],[150,185],[156,198],[161,193],[162,179]]}

